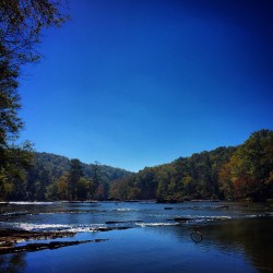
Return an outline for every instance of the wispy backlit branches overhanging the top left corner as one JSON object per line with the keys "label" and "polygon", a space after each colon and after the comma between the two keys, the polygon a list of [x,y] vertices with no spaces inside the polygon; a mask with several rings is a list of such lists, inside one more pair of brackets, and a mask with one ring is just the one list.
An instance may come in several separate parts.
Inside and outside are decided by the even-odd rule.
{"label": "wispy backlit branches overhanging the top left corner", "polygon": [[61,0],[0,1],[0,61],[7,60],[13,71],[37,60],[35,46],[44,28],[60,26],[69,17],[61,13]]}

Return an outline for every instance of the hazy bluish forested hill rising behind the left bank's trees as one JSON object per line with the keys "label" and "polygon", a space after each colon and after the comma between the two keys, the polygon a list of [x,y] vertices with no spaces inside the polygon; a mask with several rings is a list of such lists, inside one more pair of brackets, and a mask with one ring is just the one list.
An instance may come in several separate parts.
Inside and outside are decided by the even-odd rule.
{"label": "hazy bluish forested hill rising behind the left bank's trees", "polygon": [[[124,178],[132,173],[120,168],[114,168],[106,165],[84,164],[81,163],[82,182],[85,182],[86,194],[82,194],[83,199],[87,198],[87,188],[90,183],[96,185],[96,188],[104,188],[100,193],[100,199],[108,198],[110,185],[116,179]],[[60,180],[68,180],[71,169],[71,161],[68,157],[50,154],[50,153],[34,153],[34,165],[26,173],[26,182],[22,187],[22,192],[16,197],[19,200],[58,200],[57,187]],[[83,186],[83,185],[82,185]],[[60,189],[64,190],[64,188]],[[82,189],[84,190],[84,189]],[[94,192],[98,189],[93,189]],[[62,192],[63,193],[63,192]],[[64,198],[64,195],[62,194]],[[93,198],[93,197],[90,197]]]}

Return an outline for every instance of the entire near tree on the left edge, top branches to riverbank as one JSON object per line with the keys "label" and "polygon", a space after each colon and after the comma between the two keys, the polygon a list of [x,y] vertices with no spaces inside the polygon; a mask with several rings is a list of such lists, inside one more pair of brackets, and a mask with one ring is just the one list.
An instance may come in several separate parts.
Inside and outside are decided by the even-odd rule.
{"label": "entire near tree on the left edge, top branches to riverbank", "polygon": [[29,142],[14,144],[24,127],[17,114],[19,75],[23,64],[38,60],[35,46],[41,31],[68,20],[60,7],[58,0],[0,1],[0,188],[8,187],[9,192],[20,189],[13,198],[24,198],[20,181],[25,180],[24,169],[32,162]]}

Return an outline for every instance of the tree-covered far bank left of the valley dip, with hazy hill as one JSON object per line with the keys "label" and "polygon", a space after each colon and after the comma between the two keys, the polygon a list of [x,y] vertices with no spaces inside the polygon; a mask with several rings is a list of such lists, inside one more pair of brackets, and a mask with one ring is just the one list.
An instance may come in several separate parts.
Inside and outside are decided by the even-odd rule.
{"label": "tree-covered far bank left of the valley dip, with hazy hill", "polygon": [[17,171],[22,174],[20,179],[13,177],[0,188],[0,200],[107,200],[112,181],[131,174],[98,162],[84,164],[49,153],[34,153],[32,164]]}

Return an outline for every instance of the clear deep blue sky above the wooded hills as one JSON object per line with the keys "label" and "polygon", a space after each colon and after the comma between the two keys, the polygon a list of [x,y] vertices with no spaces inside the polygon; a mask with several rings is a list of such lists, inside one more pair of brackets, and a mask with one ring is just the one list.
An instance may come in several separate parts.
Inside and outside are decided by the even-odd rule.
{"label": "clear deep blue sky above the wooded hills", "polygon": [[273,129],[272,0],[71,0],[24,69],[22,139],[139,170]]}

